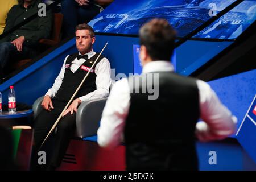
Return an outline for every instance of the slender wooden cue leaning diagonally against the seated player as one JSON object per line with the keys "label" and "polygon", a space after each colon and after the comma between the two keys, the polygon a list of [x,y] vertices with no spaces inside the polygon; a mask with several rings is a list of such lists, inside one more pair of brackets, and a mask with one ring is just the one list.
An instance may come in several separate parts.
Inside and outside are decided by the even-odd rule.
{"label": "slender wooden cue leaning diagonally against the seated player", "polygon": [[106,46],[108,45],[108,42],[105,44],[104,48],[101,50],[100,54],[98,55],[96,61],[94,61],[92,67],[90,67],[88,73],[86,73],[84,79],[82,80],[82,82],[80,83],[79,87],[76,89],[76,92],[73,94],[73,96],[71,97],[71,99],[68,101],[68,104],[65,106],[65,108],[63,109],[63,111],[61,112],[61,114],[59,115],[59,118],[57,118],[56,122],[54,123],[54,125],[52,126],[51,130],[49,131],[49,133],[47,134],[46,138],[44,139],[43,143],[41,144],[40,148],[43,146],[44,142],[46,142],[46,139],[49,137],[49,135],[52,133],[52,131],[55,129],[55,127],[57,126],[57,123],[59,123],[64,111],[67,109],[67,107],[69,106],[69,104],[71,103],[71,101],[73,100],[73,98],[76,96],[77,92],[79,91],[79,89],[81,88],[82,84],[84,83],[84,81],[86,80],[86,78],[88,77],[90,71],[92,70],[92,68],[94,67],[94,65],[96,64],[96,62],[98,61],[99,57],[101,56],[102,52],[104,51],[104,49],[106,48]]}

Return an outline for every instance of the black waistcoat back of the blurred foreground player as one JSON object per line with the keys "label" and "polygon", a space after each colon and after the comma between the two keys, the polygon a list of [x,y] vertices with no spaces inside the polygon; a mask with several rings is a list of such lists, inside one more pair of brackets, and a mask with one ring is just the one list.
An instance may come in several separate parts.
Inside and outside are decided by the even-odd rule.
{"label": "black waistcoat back of the blurred foreground player", "polygon": [[135,89],[142,92],[147,86],[152,88],[152,84],[132,88],[129,81],[127,169],[196,170],[195,125],[200,117],[196,80],[173,72],[155,73],[159,74],[156,100],[148,100],[148,93],[135,93]]}

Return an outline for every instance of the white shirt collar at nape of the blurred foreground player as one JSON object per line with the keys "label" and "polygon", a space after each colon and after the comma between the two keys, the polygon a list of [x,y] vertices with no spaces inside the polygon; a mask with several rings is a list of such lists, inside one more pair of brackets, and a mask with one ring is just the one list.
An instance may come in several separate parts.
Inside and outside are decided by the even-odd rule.
{"label": "white shirt collar at nape of the blurred foreground player", "polygon": [[142,73],[149,72],[170,72],[174,71],[174,66],[169,61],[151,61],[144,65]]}

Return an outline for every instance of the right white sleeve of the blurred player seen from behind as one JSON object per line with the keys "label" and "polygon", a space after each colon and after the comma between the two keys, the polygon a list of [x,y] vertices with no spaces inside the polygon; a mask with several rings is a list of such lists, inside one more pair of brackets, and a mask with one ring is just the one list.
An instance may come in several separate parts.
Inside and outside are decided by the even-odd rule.
{"label": "right white sleeve of the blurred player seen from behind", "polygon": [[210,86],[197,80],[200,96],[200,112],[203,121],[196,124],[196,136],[201,142],[220,140],[236,130],[237,118],[220,102]]}

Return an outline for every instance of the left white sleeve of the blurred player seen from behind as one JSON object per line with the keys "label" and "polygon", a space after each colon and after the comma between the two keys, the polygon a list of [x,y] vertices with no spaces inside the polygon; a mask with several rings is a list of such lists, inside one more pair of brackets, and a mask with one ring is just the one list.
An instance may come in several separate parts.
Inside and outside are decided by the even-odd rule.
{"label": "left white sleeve of the blurred player seen from behind", "polygon": [[115,82],[102,113],[97,131],[98,144],[114,148],[122,142],[125,120],[130,107],[130,89],[126,78]]}

